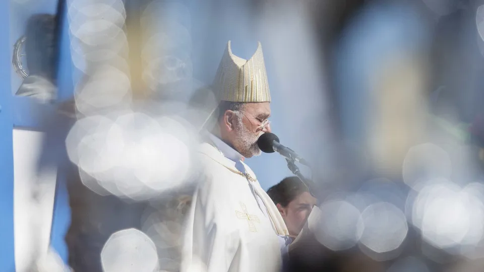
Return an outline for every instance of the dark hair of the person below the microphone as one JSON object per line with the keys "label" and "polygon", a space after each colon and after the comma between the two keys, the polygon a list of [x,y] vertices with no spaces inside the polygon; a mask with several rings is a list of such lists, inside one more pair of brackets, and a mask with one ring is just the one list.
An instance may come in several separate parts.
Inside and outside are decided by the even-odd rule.
{"label": "dark hair of the person below the microphone", "polygon": [[279,203],[282,207],[286,207],[299,194],[307,191],[308,187],[298,177],[292,176],[286,177],[281,182],[270,187],[267,190],[267,194],[274,201],[274,204],[277,205]]}

